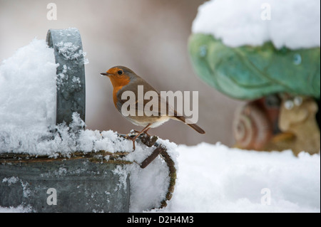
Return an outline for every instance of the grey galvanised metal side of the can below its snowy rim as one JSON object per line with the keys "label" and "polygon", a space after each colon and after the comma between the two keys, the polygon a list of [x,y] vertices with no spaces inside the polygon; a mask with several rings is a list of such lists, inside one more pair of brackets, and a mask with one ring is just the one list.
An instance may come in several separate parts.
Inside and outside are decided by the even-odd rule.
{"label": "grey galvanised metal side of the can below its snowy rim", "polygon": [[4,160],[0,162],[0,206],[29,206],[34,212],[129,211],[129,174],[114,172],[123,164],[86,158]]}

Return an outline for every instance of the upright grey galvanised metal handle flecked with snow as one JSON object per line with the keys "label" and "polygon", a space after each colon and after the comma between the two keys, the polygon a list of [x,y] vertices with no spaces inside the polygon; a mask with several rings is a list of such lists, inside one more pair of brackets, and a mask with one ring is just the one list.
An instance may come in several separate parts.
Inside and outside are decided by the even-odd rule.
{"label": "upright grey galvanised metal handle flecked with snow", "polygon": [[78,112],[85,122],[86,85],[84,53],[81,36],[76,28],[49,29],[46,37],[49,47],[54,48],[57,68],[56,125],[72,121]]}

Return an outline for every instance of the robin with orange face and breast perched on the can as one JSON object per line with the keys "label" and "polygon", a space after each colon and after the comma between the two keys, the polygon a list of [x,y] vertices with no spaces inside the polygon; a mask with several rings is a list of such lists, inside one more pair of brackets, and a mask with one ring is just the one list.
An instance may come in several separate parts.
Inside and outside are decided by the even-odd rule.
{"label": "robin with orange face and breast perched on the can", "polygon": [[[148,130],[150,130],[152,127],[158,127],[162,125],[164,122],[167,122],[170,119],[173,120],[179,120],[181,122],[184,122],[189,127],[193,128],[196,132],[200,134],[205,134],[205,131],[201,129],[198,125],[190,123],[188,119],[186,119],[183,115],[178,114],[175,110],[173,110],[173,107],[168,105],[168,102],[161,98],[161,95],[151,86],[149,85],[146,80],[143,80],[140,76],[136,75],[136,73],[133,72],[133,70],[126,68],[124,66],[115,66],[113,68],[110,68],[106,73],[101,73],[101,75],[106,75],[111,80],[111,84],[113,85],[113,103],[116,107],[116,109],[121,112],[121,115],[123,115],[121,111],[121,107],[127,100],[122,100],[121,96],[126,91],[132,91],[135,94],[136,97],[136,115],[123,115],[123,117],[126,117],[127,120],[132,122],[134,125],[142,126],[144,127],[141,132],[138,132],[138,134],[135,137],[127,137],[128,139],[131,139],[133,141],[133,149],[135,150],[135,141],[137,137],[143,133],[147,134]],[[138,106],[140,103],[138,103],[138,86],[143,85],[143,94],[147,93],[148,91],[154,91],[158,95],[157,106],[158,108],[155,110],[145,110],[143,112],[143,115],[138,115]],[[149,100],[143,100],[143,107],[150,102]],[[165,112],[166,115],[161,114],[161,102],[165,103],[165,107],[167,111]],[[151,103],[150,103],[151,105]],[[169,110],[173,111],[173,115],[168,115]]]}

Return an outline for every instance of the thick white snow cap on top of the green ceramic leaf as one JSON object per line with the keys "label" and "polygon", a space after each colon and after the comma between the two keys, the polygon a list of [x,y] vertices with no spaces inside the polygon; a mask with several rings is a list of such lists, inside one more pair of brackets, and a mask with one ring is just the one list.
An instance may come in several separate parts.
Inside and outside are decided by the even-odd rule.
{"label": "thick white snow cap on top of the green ceramic leaf", "polygon": [[192,31],[212,34],[231,47],[261,46],[267,41],[276,48],[320,47],[320,1],[206,1]]}

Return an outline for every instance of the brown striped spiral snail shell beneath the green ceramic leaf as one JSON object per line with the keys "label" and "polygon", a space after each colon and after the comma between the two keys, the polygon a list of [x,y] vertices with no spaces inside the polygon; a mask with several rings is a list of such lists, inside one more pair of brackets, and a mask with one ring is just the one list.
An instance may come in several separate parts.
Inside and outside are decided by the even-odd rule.
{"label": "brown striped spiral snail shell beneath the green ceramic leaf", "polygon": [[272,137],[272,124],[261,105],[249,102],[236,112],[233,133],[238,147],[260,150]]}

